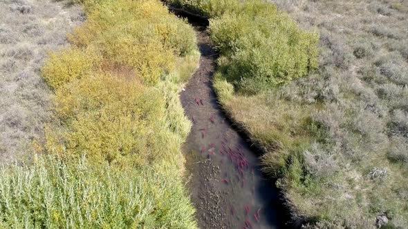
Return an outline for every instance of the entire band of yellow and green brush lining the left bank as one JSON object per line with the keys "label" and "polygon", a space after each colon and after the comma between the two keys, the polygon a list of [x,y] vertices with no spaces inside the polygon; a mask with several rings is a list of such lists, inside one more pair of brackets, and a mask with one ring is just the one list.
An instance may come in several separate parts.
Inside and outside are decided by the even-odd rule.
{"label": "entire band of yellow and green brush lining the left bank", "polygon": [[178,100],[198,62],[194,30],[156,0],[82,3],[72,46],[41,70],[55,97],[37,150],[52,156],[3,168],[1,222],[195,228],[180,153],[191,124]]}

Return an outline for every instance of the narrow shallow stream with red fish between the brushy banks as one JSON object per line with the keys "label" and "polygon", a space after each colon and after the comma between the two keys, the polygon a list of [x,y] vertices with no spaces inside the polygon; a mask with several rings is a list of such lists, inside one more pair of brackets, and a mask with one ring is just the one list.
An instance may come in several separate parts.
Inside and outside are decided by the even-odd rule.
{"label": "narrow shallow stream with red fish between the brushy banks", "polygon": [[[192,21],[190,21],[192,22]],[[180,94],[192,130],[183,146],[200,228],[284,228],[284,208],[259,159],[234,130],[212,88],[216,53],[203,24],[193,23],[200,66]]]}

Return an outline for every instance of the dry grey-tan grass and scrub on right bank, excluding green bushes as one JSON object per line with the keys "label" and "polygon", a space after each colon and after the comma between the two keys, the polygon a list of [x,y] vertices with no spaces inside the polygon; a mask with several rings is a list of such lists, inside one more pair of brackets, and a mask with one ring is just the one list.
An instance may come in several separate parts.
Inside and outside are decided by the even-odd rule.
{"label": "dry grey-tan grass and scrub on right bank, excluding green bushes", "polygon": [[408,1],[275,2],[319,28],[319,70],[254,96],[219,77],[223,106],[310,227],[405,228]]}

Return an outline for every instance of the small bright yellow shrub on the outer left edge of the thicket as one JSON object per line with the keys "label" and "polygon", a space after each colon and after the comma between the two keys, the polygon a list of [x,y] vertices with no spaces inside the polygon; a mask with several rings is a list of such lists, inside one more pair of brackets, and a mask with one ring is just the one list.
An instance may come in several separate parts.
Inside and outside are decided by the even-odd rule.
{"label": "small bright yellow shrub on the outer left edge of the thicket", "polygon": [[88,74],[99,61],[95,50],[66,48],[50,54],[50,59],[41,68],[41,74],[49,86],[58,88]]}

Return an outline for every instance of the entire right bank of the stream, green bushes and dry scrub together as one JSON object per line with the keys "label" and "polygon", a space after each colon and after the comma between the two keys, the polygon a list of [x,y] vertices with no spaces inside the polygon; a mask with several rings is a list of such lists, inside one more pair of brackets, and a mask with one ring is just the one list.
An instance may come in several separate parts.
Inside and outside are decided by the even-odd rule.
{"label": "entire right bank of the stream, green bushes and dry scrub together", "polygon": [[407,1],[170,2],[210,18],[219,101],[295,219],[407,226]]}

